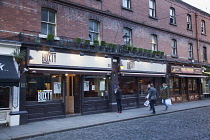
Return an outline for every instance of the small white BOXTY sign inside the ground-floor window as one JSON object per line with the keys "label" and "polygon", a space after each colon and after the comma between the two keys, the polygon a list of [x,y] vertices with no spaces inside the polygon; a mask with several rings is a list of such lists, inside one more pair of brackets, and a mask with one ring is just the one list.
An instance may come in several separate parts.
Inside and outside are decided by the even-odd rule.
{"label": "small white BOXTY sign inside the ground-floor window", "polygon": [[52,100],[52,90],[38,90],[38,102]]}

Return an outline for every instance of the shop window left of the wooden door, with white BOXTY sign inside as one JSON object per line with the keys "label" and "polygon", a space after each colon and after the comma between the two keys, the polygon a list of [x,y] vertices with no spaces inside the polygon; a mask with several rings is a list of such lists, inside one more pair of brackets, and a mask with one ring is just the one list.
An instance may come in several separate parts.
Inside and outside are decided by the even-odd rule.
{"label": "shop window left of the wooden door, with white BOXTY sign inside", "polygon": [[62,75],[59,74],[28,74],[26,100],[39,102],[62,99],[61,81]]}

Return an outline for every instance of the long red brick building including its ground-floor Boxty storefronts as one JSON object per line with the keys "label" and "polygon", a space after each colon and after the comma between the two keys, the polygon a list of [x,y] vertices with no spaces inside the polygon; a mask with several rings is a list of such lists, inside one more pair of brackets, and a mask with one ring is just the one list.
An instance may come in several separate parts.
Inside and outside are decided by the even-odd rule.
{"label": "long red brick building including its ground-floor Boxty storefronts", "polygon": [[180,0],[1,0],[0,13],[0,40],[25,52],[10,125],[8,112],[24,124],[115,111],[117,85],[124,109],[143,106],[149,83],[168,83],[174,103],[209,94],[210,15]]}

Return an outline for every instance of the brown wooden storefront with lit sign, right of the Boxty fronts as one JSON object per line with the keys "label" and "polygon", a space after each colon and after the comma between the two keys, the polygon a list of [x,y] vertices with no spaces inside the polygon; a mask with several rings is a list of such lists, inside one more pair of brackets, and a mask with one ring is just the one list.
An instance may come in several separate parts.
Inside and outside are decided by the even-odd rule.
{"label": "brown wooden storefront with lit sign, right of the Boxty fronts", "polygon": [[202,68],[169,65],[169,91],[174,103],[195,101],[201,98]]}

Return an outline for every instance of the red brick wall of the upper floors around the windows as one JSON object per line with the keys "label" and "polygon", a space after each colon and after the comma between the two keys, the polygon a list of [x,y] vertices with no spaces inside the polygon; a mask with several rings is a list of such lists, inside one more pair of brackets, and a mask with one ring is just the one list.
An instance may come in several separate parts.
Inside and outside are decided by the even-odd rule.
{"label": "red brick wall of the upper floors around the windows", "polygon": [[[132,11],[122,9],[122,0],[69,0],[90,9],[97,9],[108,13],[75,8],[73,4],[58,4],[52,0],[2,0],[0,1],[0,30],[26,32],[24,30],[41,31],[41,7],[48,7],[57,11],[57,36],[81,37],[88,39],[88,20],[94,19],[100,23],[100,39],[110,43],[123,44],[123,28],[132,29],[132,42],[134,46],[151,49],[151,34],[158,37],[158,49],[164,51],[171,58],[171,39],[177,40],[178,56],[188,61],[188,44],[196,50],[196,24],[194,10],[187,5],[172,0],[156,0],[157,19],[149,18],[149,0],[132,0]],[[177,25],[169,24],[169,8],[176,10]],[[210,50],[210,21],[209,15],[198,12],[198,36],[200,47]],[[187,30],[187,13],[192,16],[192,31]],[[201,20],[206,22],[206,35],[201,35]],[[182,36],[180,36],[182,35]],[[202,51],[201,58],[202,58]],[[173,59],[173,58],[171,58]],[[208,55],[210,60],[210,55]]]}

